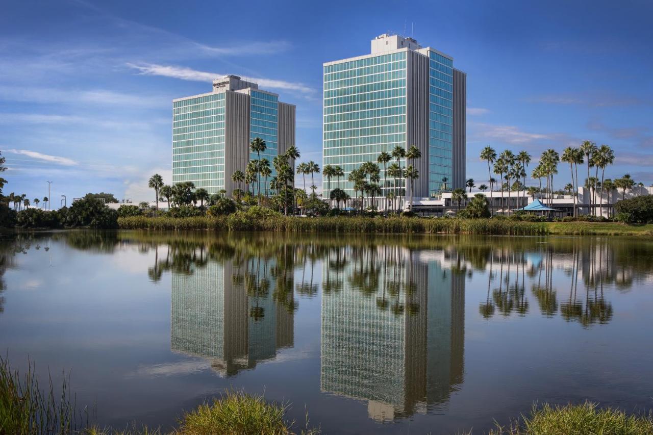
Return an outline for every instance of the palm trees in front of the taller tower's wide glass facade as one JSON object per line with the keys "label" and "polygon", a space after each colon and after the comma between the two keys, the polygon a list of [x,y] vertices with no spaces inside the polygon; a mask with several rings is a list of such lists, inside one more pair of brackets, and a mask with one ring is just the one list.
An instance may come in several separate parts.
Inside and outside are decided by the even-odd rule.
{"label": "palm trees in front of the taller tower's wide glass facade", "polygon": [[[417,146],[413,145],[408,150],[402,146],[396,146],[392,152],[381,152],[377,157],[376,163],[367,161],[362,163],[357,169],[351,170],[347,176],[347,181],[353,185],[354,196],[356,198],[358,198],[358,192],[360,192],[360,210],[366,207],[365,194],[368,195],[367,206],[372,210],[377,208],[375,199],[384,197],[386,214],[390,208],[390,204],[392,204],[392,210],[400,211],[399,209],[404,195],[409,195],[412,208],[413,185],[415,180],[419,178],[419,170],[415,169],[414,163],[415,160],[421,157],[422,153]],[[402,167],[402,159],[406,160],[406,167]],[[379,167],[381,164],[383,165],[383,178],[381,178],[381,168]],[[323,175],[327,178],[327,190],[329,193],[326,196],[331,201],[336,201],[336,206],[340,208],[340,202],[344,201],[346,204],[350,198],[343,189],[340,189],[340,177],[345,175],[342,167],[327,165],[324,168]],[[332,177],[338,179],[337,187],[333,190],[331,190]],[[383,184],[381,184],[381,180],[383,180]],[[392,180],[392,184],[390,184],[390,180]],[[404,185],[408,187],[407,190],[404,189]]]}

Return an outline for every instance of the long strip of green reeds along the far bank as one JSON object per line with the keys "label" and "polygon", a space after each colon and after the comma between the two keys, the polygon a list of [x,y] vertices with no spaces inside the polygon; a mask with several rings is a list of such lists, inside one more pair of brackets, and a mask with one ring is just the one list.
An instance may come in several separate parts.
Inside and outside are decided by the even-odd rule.
{"label": "long strip of green reeds along the far bank", "polygon": [[422,217],[293,217],[236,212],[229,216],[118,218],[119,229],[155,231],[272,231],[291,233],[485,234],[513,236],[653,236],[653,225],[601,222],[528,222],[511,219]]}

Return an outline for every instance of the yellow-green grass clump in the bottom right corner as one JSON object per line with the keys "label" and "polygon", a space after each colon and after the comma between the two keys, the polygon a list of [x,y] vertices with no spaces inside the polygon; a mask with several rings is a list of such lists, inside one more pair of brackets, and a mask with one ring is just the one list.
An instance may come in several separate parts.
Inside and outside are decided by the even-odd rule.
{"label": "yellow-green grass clump in the bottom right corner", "polygon": [[498,426],[490,435],[650,435],[652,415],[628,415],[624,411],[580,405],[534,407],[528,417],[508,427]]}

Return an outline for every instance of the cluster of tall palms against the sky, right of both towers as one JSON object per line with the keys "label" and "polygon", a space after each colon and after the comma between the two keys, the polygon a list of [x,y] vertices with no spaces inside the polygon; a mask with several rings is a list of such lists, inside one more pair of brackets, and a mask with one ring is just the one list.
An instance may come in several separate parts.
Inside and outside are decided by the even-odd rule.
{"label": "cluster of tall palms against the sky, right of both towers", "polygon": [[[539,180],[539,189],[533,186],[526,186],[526,167],[531,161],[531,156],[528,152],[522,151],[514,155],[510,150],[505,150],[500,155],[490,146],[486,146],[481,151],[481,160],[486,161],[488,164],[488,173],[490,174],[490,193],[495,187],[494,178],[492,174],[497,174],[502,180],[499,184],[502,191],[502,208],[503,208],[503,190],[504,187],[510,195],[511,190],[523,191],[528,193],[533,198],[538,193],[543,195],[543,199],[547,201],[549,206],[552,204],[553,195],[555,193],[553,187],[553,177],[558,174],[558,162],[562,161],[569,164],[569,172],[571,173],[571,183],[565,185],[564,191],[567,191],[572,197],[574,202],[574,216],[578,215],[579,205],[579,192],[578,187],[580,184],[579,178],[579,165],[586,165],[587,177],[582,184],[586,191],[589,193],[588,206],[590,214],[595,214],[599,208],[599,216],[603,214],[603,192],[607,193],[607,203],[611,203],[611,194],[615,189],[622,189],[622,199],[626,197],[626,191],[635,185],[635,181],[629,174],[624,175],[622,178],[611,180],[605,178],[605,169],[614,163],[614,152],[608,145],[596,146],[594,142],[585,140],[578,148],[571,146],[565,148],[562,156],[556,150],[546,150],[539,158],[537,166],[532,170],[531,178]],[[592,176],[592,168],[594,168],[594,176]],[[600,172],[600,178],[599,178]],[[519,182],[519,180],[523,180]],[[542,179],[545,180],[545,185],[542,184]],[[505,180],[505,184],[503,183]],[[511,180],[515,180],[515,184],[511,185]],[[470,185],[471,182],[471,185]],[[468,180],[468,187],[473,187],[473,180]],[[641,183],[640,183],[641,185]],[[481,189],[485,191],[486,186]],[[508,213],[510,212],[508,206]]]}

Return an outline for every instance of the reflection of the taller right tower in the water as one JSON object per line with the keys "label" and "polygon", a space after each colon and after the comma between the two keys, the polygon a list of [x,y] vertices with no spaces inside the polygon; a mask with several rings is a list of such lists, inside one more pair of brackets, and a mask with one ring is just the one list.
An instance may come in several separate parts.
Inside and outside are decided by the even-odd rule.
{"label": "reflection of the taller right tower in the water", "polygon": [[400,247],[357,255],[323,295],[321,389],[367,400],[379,421],[447,402],[463,380],[464,276]]}

